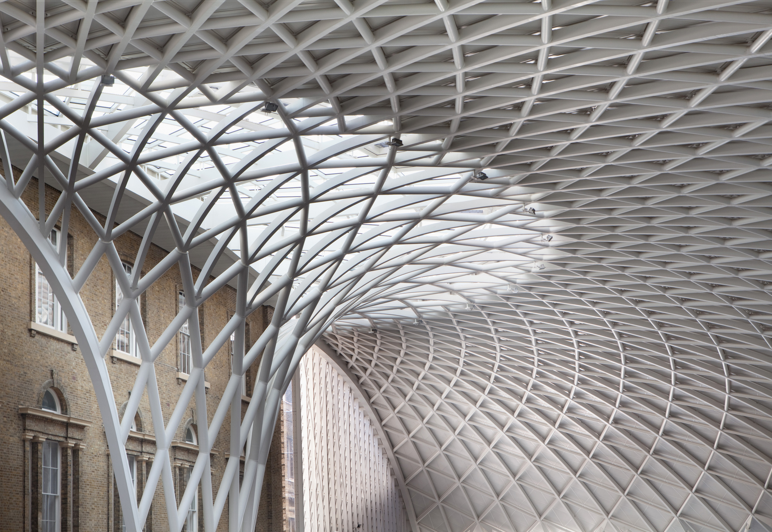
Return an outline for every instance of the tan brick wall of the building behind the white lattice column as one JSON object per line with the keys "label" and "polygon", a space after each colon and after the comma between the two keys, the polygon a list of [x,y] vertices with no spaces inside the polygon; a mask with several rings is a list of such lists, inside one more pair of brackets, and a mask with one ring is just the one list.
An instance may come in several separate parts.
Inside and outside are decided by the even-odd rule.
{"label": "tan brick wall of the building behind the white lattice column", "polygon": [[[33,182],[26,188],[23,196],[32,212],[37,212],[37,190],[38,187]],[[50,212],[58,195],[58,191],[46,186],[46,211]],[[103,216],[93,214],[100,222],[104,222]],[[74,208],[69,236],[72,246],[71,262],[77,271],[96,243],[96,236],[80,212]],[[131,263],[140,243],[141,237],[134,233],[127,232],[120,236],[116,246],[121,259]],[[0,422],[2,422],[0,445],[5,455],[0,461],[0,486],[3,486],[0,530],[21,532],[35,530],[38,525],[39,516],[33,515],[36,513],[34,508],[36,500],[30,488],[30,482],[33,479],[29,474],[29,460],[35,458],[33,455],[36,452],[36,446],[42,442],[42,439],[56,439],[63,448],[73,449],[76,466],[70,466],[67,481],[68,486],[72,486],[74,478],[78,490],[76,490],[77,493],[68,493],[69,510],[66,519],[67,526],[70,528],[63,527],[63,530],[107,530],[107,532],[120,530],[120,503],[114,491],[107,442],[83,357],[80,351],[73,350],[72,343],[30,330],[30,321],[34,320],[34,263],[22,242],[3,219],[0,219],[0,249],[2,249],[0,269],[3,272],[0,276],[0,368],[2,368],[0,385],[3,390],[0,396]],[[166,254],[164,249],[152,246],[144,263],[143,273],[149,271]],[[197,274],[198,272],[195,273]],[[113,316],[114,283],[107,259],[102,257],[80,293],[98,335],[106,329]],[[143,319],[151,344],[157,340],[178,311],[179,286],[181,286],[180,272],[178,267],[174,266],[143,295]],[[234,310],[235,290],[230,286],[222,288],[201,307],[199,315],[205,347],[214,340]],[[270,307],[263,307],[248,318],[248,346],[252,345],[265,329],[272,312],[273,309]],[[155,363],[164,422],[168,421],[185,385],[185,381],[177,378],[178,353],[178,341],[171,341]],[[129,391],[134,386],[134,378],[137,376],[139,366],[110,355],[111,353],[108,353],[105,360],[116,405],[119,412],[122,412],[122,405],[129,398]],[[248,393],[251,393],[252,374],[256,372],[258,363],[256,362],[249,370]],[[226,343],[208,364],[206,370],[206,380],[211,383],[207,393],[209,421],[215,413],[229,375],[230,354],[229,345]],[[53,386],[59,392],[66,414],[80,421],[66,422],[40,418],[34,413],[28,415],[20,413],[20,408],[39,408],[43,391],[49,386]],[[242,403],[242,412],[245,412],[247,405],[247,402]],[[197,428],[199,422],[195,404],[191,402],[190,406],[193,409],[188,409],[188,415],[185,416],[178,434],[174,437],[179,442],[184,440],[185,427],[192,423],[194,428]],[[86,426],[88,422],[90,425]],[[137,471],[140,473],[139,481],[142,484],[143,476],[146,476],[151,468],[155,452],[154,429],[147,394],[141,399],[137,422],[137,432],[130,435],[127,449],[137,456]],[[258,530],[282,530],[281,425],[280,422],[276,424],[274,446],[269,455]],[[81,432],[77,432],[78,430]],[[78,439],[78,435],[81,439]],[[229,419],[226,417],[215,440],[212,454],[212,484],[215,490],[225,470],[225,453],[229,449],[228,435]],[[172,462],[178,467],[191,466],[195,461],[195,449],[189,449],[184,445],[177,444],[170,452]],[[73,463],[72,457],[71,463]],[[76,469],[72,469],[73,467]],[[178,473],[178,470],[175,473]],[[168,530],[161,491],[159,489],[154,498],[147,530]],[[72,508],[75,503],[76,507]],[[202,521],[202,518],[199,518],[201,530],[203,530]],[[218,530],[228,530],[227,511],[223,513]]]}

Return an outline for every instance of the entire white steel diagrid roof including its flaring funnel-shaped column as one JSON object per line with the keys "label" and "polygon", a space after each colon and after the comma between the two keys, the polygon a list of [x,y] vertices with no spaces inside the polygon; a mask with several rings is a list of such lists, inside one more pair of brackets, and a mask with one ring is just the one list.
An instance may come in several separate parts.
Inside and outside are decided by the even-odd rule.
{"label": "entire white steel diagrid roof including its flaring funnel-shaped column", "polygon": [[[0,214],[89,365],[127,530],[159,481],[174,504],[166,435],[232,333],[188,485],[210,486],[205,530],[228,489],[254,529],[273,420],[252,421],[325,331],[413,532],[772,530],[769,0],[8,0],[0,29]],[[62,191],[50,213],[20,199],[40,176]],[[73,208],[99,242],[70,278],[46,235]],[[127,231],[144,237],[129,276]],[[151,243],[170,255],[142,277]],[[95,331],[78,291],[103,254],[124,302]],[[219,287],[239,309],[194,338],[173,415],[154,403],[161,459],[137,501],[103,354],[176,264],[185,310],[139,335],[135,391]],[[210,442],[263,349],[231,442],[238,466],[252,431],[244,482],[233,466],[211,486]]]}

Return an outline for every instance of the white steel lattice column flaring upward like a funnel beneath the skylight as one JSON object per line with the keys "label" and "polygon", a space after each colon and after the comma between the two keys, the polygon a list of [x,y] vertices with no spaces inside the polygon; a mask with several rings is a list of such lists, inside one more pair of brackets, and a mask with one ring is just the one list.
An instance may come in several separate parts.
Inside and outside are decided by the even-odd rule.
{"label": "white steel lattice column flaring upward like a funnel beneath the skylight", "polygon": [[[56,72],[56,65],[44,63],[42,57],[39,58],[38,65],[38,80],[43,79],[44,72]],[[168,524],[171,530],[180,530],[184,525],[187,509],[199,482],[203,492],[205,530],[215,529],[225,510],[226,498],[229,503],[231,530],[253,530],[259,490],[280,399],[300,357],[338,316],[347,312],[357,301],[362,300],[405,265],[405,258],[400,258],[399,253],[390,252],[391,248],[407,238],[411,229],[442,205],[449,197],[449,191],[445,188],[438,189],[438,193],[433,195],[435,200],[428,202],[418,216],[409,215],[408,219],[404,220],[392,217],[396,223],[365,232],[363,227],[368,219],[384,215],[390,208],[405,203],[381,204],[374,208],[376,198],[384,188],[394,164],[396,146],[389,147],[384,158],[373,158],[370,161],[360,158],[357,160],[357,166],[360,168],[354,167],[323,185],[313,187],[309,181],[310,168],[324,162],[329,163],[331,168],[336,168],[336,165],[344,168],[354,166],[348,161],[336,163],[335,158],[362,144],[371,143],[378,137],[344,137],[325,149],[306,154],[303,135],[325,132],[320,129],[320,124],[328,119],[293,120],[289,117],[293,109],[277,102],[278,116],[284,127],[274,127],[267,133],[252,134],[251,137],[269,137],[269,140],[254,147],[239,161],[226,164],[220,147],[234,141],[249,141],[250,137],[249,134],[229,134],[228,131],[263,107],[266,101],[263,93],[249,93],[249,98],[245,99],[259,101],[235,107],[231,113],[220,117],[215,127],[206,132],[191,124],[181,111],[175,110],[175,107],[189,105],[186,98],[192,88],[174,91],[165,100],[157,94],[144,93],[150,103],[138,110],[117,110],[112,114],[95,117],[94,111],[105,88],[103,76],[107,76],[106,71],[107,65],[81,69],[77,73],[74,80],[76,83],[92,84],[82,114],[76,113],[52,94],[56,88],[66,86],[63,80],[33,83],[21,77],[12,78],[15,83],[28,86],[29,93],[9,103],[5,111],[11,114],[13,110],[19,110],[37,101],[37,141],[20,130],[19,124],[15,124],[13,120],[0,121],[5,170],[5,187],[0,190],[0,213],[22,239],[51,283],[79,342],[103,416],[127,529],[141,530],[144,526],[160,481],[164,486],[166,506],[170,509]],[[113,70],[113,75],[123,80],[127,86],[134,86],[137,92],[140,91],[141,88],[136,86],[135,80],[130,76],[116,70]],[[61,76],[63,79],[66,77],[64,73],[61,73]],[[63,133],[46,137],[50,131],[47,130],[49,126],[46,125],[44,111],[49,108],[58,110],[61,116],[69,119],[73,125]],[[120,125],[125,120],[136,117],[144,120],[144,126],[128,153],[98,129],[105,125]],[[147,168],[149,163],[170,157],[170,150],[154,149],[154,142],[161,136],[159,127],[170,122],[194,140],[171,150],[172,155],[184,155],[184,160],[176,165],[171,177],[159,181],[147,175],[144,168]],[[119,160],[117,164],[83,175],[83,166],[88,166],[84,150],[87,140],[92,148],[93,143],[98,143],[100,147],[110,151]],[[68,143],[72,145],[72,151],[69,170],[65,174],[50,154],[55,150],[61,151],[63,145]],[[293,158],[292,161],[280,166],[255,168],[262,158],[285,143],[292,144],[293,149],[286,151],[286,154]],[[11,155],[14,150],[29,152],[29,158],[26,161],[23,158],[14,161]],[[191,175],[191,168],[203,158],[212,161],[216,171],[214,178],[205,180]],[[367,165],[363,165],[363,162],[367,162]],[[15,163],[24,165],[22,175],[17,179],[13,177]],[[430,173],[443,175],[452,174],[454,171],[456,170],[451,169]],[[353,198],[339,199],[336,195],[336,188],[345,185],[347,181],[371,174],[374,175],[371,184],[357,190],[351,195]],[[33,182],[33,177],[39,178],[37,213],[33,213],[22,200],[22,193]],[[458,190],[469,177],[470,175],[466,175],[458,178],[455,185],[452,185],[452,190]],[[253,188],[245,193],[244,185],[257,178],[264,179],[262,188]],[[115,186],[110,189],[110,204],[103,206],[106,220],[100,223],[81,194],[103,185],[103,182],[108,180]],[[45,208],[46,181],[61,190],[51,212],[46,212]],[[289,185],[300,189],[295,198],[286,203],[266,201],[276,191]],[[397,182],[393,186],[399,185],[401,184]],[[119,215],[124,204],[129,201],[132,188],[144,188],[149,193],[147,205],[141,209],[135,208],[128,216],[125,213]],[[202,201],[198,202],[200,206],[195,215],[185,220],[187,226],[182,225],[181,216],[174,211],[174,205],[195,198],[202,198]],[[422,196],[423,200],[427,198],[431,200],[432,195]],[[212,216],[218,204],[222,205],[223,202],[230,205],[229,218]],[[314,202],[327,202],[326,208],[317,208],[312,212]],[[66,269],[66,239],[62,239],[62,245],[55,249],[49,235],[56,224],[60,225],[61,233],[66,235],[73,207],[90,224],[97,236],[97,243],[80,269],[71,277]],[[354,214],[349,214],[346,222],[330,224],[330,219],[340,212]],[[259,225],[262,229],[252,229],[252,221],[265,219],[266,215],[271,215],[271,219]],[[121,219],[121,216],[124,219]],[[288,222],[296,222],[296,231],[284,238],[277,238],[279,232],[283,235]],[[147,252],[161,230],[171,235],[174,249],[142,276],[141,270]],[[132,273],[128,274],[114,243],[127,231],[134,231],[142,236],[141,246],[134,257],[134,268]],[[309,236],[317,236],[313,240],[313,246],[309,245]],[[378,239],[378,236],[381,238]],[[212,239],[216,239],[216,244],[208,252],[208,259],[195,279],[190,253],[198,251],[202,245],[208,245]],[[233,260],[224,272],[215,275],[215,268],[228,251],[237,253],[237,259]],[[123,299],[107,329],[97,331],[79,293],[102,256],[107,256]],[[262,266],[256,269],[256,264],[261,260]],[[381,266],[376,267],[378,265]],[[157,341],[150,344],[141,320],[139,300],[148,287],[173,266],[179,266],[181,271],[185,305]],[[423,270],[425,268],[419,269]],[[212,276],[214,280],[207,282]],[[395,282],[398,280],[391,279],[384,286],[388,287]],[[236,285],[236,312],[212,344],[204,349],[199,333],[198,308],[227,283]],[[246,317],[274,297],[276,308],[273,320],[259,340],[249,351],[245,351]],[[119,419],[104,357],[112,346],[120,325],[127,317],[137,335],[141,367],[124,415]],[[191,330],[192,368],[168,422],[164,422],[154,362],[185,322],[190,324]],[[208,427],[199,429],[198,459],[191,471],[185,493],[181,494],[181,502],[177,505],[169,458],[171,439],[178,430],[189,404],[195,404],[200,419],[208,419],[204,371],[215,353],[232,335],[235,337],[232,375],[212,422]],[[252,401],[242,420],[240,382],[245,368],[249,368],[261,352],[263,355]],[[157,452],[147,475],[144,493],[141,499],[137,500],[131,488],[124,445],[131,420],[145,391],[151,404]],[[231,427],[230,458],[222,482],[215,490],[210,474],[209,452],[228,415]],[[247,457],[244,479],[239,483],[239,456],[245,444]]]}

